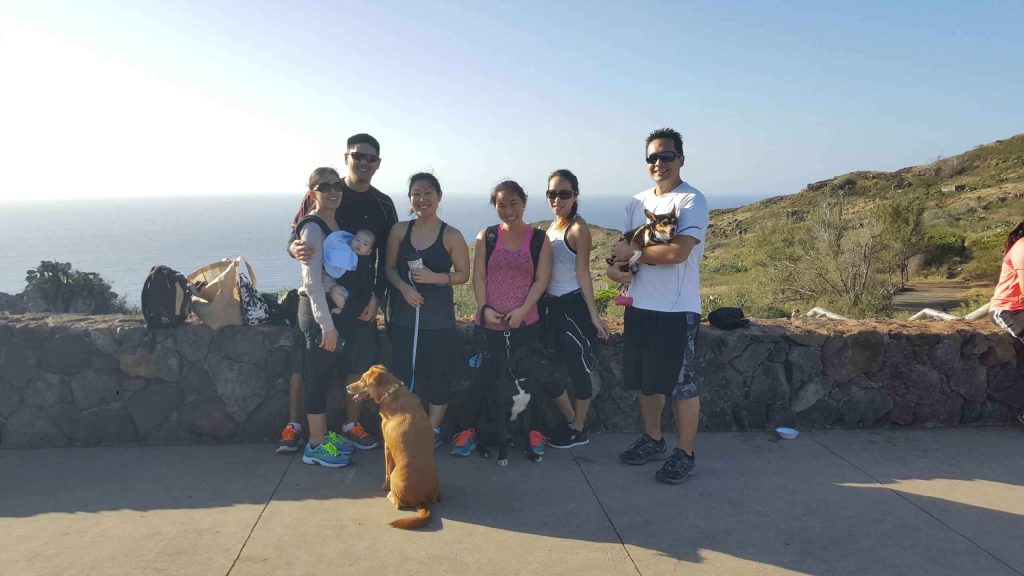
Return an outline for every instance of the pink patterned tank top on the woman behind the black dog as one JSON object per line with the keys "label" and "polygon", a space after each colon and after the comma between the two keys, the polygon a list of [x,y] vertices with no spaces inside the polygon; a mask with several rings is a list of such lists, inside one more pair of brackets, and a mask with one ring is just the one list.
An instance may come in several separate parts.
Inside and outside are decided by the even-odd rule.
{"label": "pink patterned tank top on the woman behind the black dog", "polygon": [[[529,255],[529,239],[534,236],[529,227],[522,245],[517,250],[505,248],[505,232],[498,227],[498,242],[487,262],[487,305],[506,314],[522,305],[534,284],[534,258]],[[529,308],[522,325],[527,326],[540,320],[537,305]],[[503,325],[488,324],[487,328],[501,330]]]}

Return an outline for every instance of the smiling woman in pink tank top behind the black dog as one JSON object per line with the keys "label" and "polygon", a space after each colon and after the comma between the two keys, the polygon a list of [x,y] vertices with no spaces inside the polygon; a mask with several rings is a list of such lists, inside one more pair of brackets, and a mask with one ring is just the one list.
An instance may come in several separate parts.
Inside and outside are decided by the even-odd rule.
{"label": "smiling woman in pink tank top behind the black dog", "polygon": [[[480,417],[480,398],[497,380],[499,367],[520,347],[540,342],[537,302],[551,279],[551,246],[540,236],[541,231],[522,219],[526,211],[522,187],[513,180],[499,183],[490,192],[490,204],[501,223],[476,235],[473,254],[476,324],[483,333],[486,354],[466,395],[464,414],[456,423],[461,431],[452,443],[455,456],[469,456],[476,445],[473,426]],[[554,398],[563,393],[549,390]],[[544,453],[544,437],[539,430],[529,431],[528,450],[535,455]]]}

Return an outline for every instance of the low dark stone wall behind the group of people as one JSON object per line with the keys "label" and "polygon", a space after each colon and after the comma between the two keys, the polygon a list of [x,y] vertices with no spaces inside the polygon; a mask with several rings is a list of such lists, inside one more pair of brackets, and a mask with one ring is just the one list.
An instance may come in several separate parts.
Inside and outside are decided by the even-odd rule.
{"label": "low dark stone wall behind the group of people", "polygon": [[[469,330],[460,332],[462,388],[471,351]],[[123,317],[0,314],[0,446],[274,440],[288,416],[291,343],[283,327],[150,334]],[[1024,408],[1024,363],[1014,345],[987,322],[801,320],[732,332],[706,325],[701,427],[1012,423]],[[382,354],[386,360],[386,342]],[[595,429],[639,429],[621,359],[612,336],[600,348]],[[334,386],[330,405],[340,406],[342,394]]]}

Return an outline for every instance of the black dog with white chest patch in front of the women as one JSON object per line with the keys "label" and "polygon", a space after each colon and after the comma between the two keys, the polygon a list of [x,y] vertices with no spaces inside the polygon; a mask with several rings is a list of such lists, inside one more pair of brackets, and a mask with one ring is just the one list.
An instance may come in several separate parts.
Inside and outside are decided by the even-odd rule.
{"label": "black dog with white chest patch in front of the women", "polygon": [[[515,446],[509,424],[515,405],[514,398],[521,394],[520,388],[530,395],[525,409],[516,416],[521,426],[522,446],[530,461],[540,462],[542,456],[529,449],[529,430],[535,423],[541,422],[542,397],[555,398],[561,394],[550,355],[538,343],[519,348],[502,366],[496,384],[487,390],[484,405],[486,418],[496,428],[494,445],[498,447],[498,465],[508,465],[508,449],[510,446]],[[554,394],[555,392],[558,394]],[[477,451],[484,458],[490,457],[488,445],[484,444],[482,439],[477,445]]]}

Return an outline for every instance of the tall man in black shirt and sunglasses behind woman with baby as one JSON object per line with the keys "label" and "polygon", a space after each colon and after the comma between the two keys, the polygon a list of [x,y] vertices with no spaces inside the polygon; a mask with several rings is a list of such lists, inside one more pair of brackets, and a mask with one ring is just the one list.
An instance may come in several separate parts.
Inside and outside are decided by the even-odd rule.
{"label": "tall man in black shirt and sunglasses behind woman with baby", "polygon": [[[355,134],[348,138],[346,145],[345,166],[348,170],[341,182],[341,205],[335,215],[338,227],[352,234],[369,230],[377,238],[387,238],[391,227],[398,221],[398,213],[391,198],[371,184],[380,168],[380,143],[370,134]],[[376,271],[370,300],[350,302],[342,312],[342,326],[346,328],[340,334],[345,340],[345,385],[358,380],[377,360],[377,310],[384,301],[388,284],[384,278],[383,249],[384,242],[378,242],[370,255],[370,262]],[[313,253],[312,248],[301,240],[293,242],[288,251],[302,261],[308,261]],[[345,398],[346,415],[341,436],[356,448],[376,448],[377,441],[358,421],[359,404],[348,395]]]}

